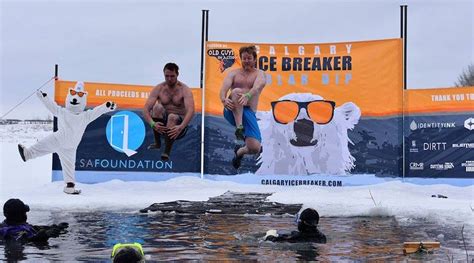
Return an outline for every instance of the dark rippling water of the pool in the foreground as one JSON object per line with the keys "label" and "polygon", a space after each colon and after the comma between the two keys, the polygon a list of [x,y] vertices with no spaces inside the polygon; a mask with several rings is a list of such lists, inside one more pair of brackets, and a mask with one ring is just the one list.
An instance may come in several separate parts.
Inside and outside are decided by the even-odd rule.
{"label": "dark rippling water of the pool in the foreground", "polygon": [[[261,260],[318,261],[466,261],[461,227],[424,219],[394,217],[322,217],[320,230],[327,244],[262,241],[269,229],[294,230],[290,216],[175,215],[135,212],[30,212],[30,222],[69,222],[69,233],[46,246],[0,242],[0,261],[110,261],[117,242],[143,244],[147,261]],[[474,258],[473,229],[464,229],[469,261]],[[403,255],[405,241],[435,241],[432,254]]]}

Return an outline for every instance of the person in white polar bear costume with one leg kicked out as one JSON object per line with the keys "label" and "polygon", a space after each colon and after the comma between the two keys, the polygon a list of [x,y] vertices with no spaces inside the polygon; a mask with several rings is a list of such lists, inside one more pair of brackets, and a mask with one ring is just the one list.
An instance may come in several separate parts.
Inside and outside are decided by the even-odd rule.
{"label": "person in white polar bear costume with one leg kicked out", "polygon": [[23,161],[34,159],[50,153],[57,153],[63,168],[63,178],[66,194],[80,194],[81,190],[75,188],[76,151],[81,142],[82,135],[87,125],[99,118],[102,114],[115,110],[114,102],[108,101],[91,110],[84,111],[87,104],[87,92],[84,83],[78,81],[74,88],[69,88],[65,108],[60,107],[38,90],[38,98],[46,108],[58,119],[58,130],[46,136],[31,147],[18,144],[18,151]]}

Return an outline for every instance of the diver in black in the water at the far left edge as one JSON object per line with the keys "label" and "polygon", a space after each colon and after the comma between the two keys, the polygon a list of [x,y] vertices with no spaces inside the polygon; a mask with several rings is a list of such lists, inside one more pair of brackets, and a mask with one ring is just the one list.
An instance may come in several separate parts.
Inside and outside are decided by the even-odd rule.
{"label": "diver in black in the water at the far left edge", "polygon": [[20,199],[9,199],[3,205],[5,220],[0,224],[0,238],[5,241],[47,242],[67,232],[68,223],[51,226],[34,226],[26,222],[30,207]]}

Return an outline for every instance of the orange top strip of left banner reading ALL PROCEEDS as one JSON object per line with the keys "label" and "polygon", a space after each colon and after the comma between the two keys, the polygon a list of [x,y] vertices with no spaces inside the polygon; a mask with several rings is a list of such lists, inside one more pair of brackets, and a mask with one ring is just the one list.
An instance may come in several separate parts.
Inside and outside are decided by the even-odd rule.
{"label": "orange top strip of left banner reading ALL PROCEEDS", "polygon": [[[69,88],[73,88],[76,81],[57,80],[55,81],[54,99],[64,106]],[[106,101],[114,101],[122,109],[142,109],[154,86],[126,85],[84,82],[84,89],[87,91],[87,106],[95,107]],[[194,108],[196,112],[201,111],[201,89],[191,88],[194,96]]]}

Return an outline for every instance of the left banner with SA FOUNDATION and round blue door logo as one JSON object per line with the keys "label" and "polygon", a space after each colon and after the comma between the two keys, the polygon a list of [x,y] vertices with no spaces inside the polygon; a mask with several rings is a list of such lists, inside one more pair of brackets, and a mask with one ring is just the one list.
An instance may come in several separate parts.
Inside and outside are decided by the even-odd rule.
{"label": "left banner with SA FOUNDATION and round blue door logo", "polygon": [[[75,83],[56,81],[55,99],[59,105],[64,105],[69,87]],[[76,153],[78,182],[111,179],[157,181],[181,173],[200,173],[200,108],[195,109],[196,114],[184,137],[174,142],[169,160],[162,160],[165,140],[162,138],[160,149],[148,149],[154,143],[154,135],[142,114],[152,86],[89,82],[84,86],[88,92],[88,107],[114,101],[118,108],[87,126]],[[193,89],[193,95],[196,107],[199,107],[200,90]],[[56,119],[54,125],[56,130]],[[53,180],[62,180],[61,164],[56,154],[53,155]]]}

